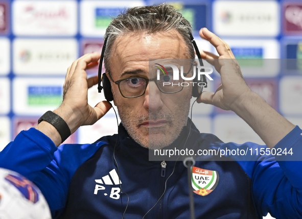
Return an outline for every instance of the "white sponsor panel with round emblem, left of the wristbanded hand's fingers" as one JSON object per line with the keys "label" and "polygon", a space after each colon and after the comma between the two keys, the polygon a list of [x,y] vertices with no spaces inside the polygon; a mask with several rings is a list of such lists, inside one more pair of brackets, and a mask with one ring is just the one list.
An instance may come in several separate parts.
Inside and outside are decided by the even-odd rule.
{"label": "white sponsor panel with round emblem, left of the wristbanded hand's fingers", "polygon": [[13,67],[16,74],[66,74],[78,58],[75,39],[15,39]]}

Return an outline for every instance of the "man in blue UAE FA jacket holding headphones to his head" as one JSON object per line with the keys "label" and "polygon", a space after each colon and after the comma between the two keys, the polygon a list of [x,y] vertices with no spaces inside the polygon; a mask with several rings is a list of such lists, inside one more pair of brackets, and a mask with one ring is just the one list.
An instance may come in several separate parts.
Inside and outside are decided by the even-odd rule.
{"label": "man in blue UAE FA jacket holding headphones to his head", "polygon": [[[258,147],[224,144],[214,135],[200,134],[187,120],[192,86],[164,93],[149,81],[143,93],[125,98],[121,80],[134,86],[137,78],[150,79],[149,59],[194,58],[189,32],[189,22],[165,4],[132,8],[113,19],[104,37],[109,36],[104,61],[122,120],[119,135],[57,150],[64,133],[56,124],[41,121],[4,149],[0,165],[35,182],[54,218],[189,218],[187,169],[182,162],[148,161],[148,148],[181,144],[188,133],[190,143],[202,148]],[[219,70],[222,85],[215,93],[204,91],[198,102],[233,110],[269,148],[298,148],[302,131],[247,87],[228,45],[205,28],[200,36],[216,47],[219,57],[207,52],[201,56]],[[71,133],[94,124],[111,108],[106,101],[94,108],[87,103],[87,89],[98,79],[87,79],[85,69],[99,59],[98,53],[84,55],[67,70],[63,102],[53,112]],[[300,218],[301,162],[257,159],[196,162],[197,169],[216,175],[213,189],[202,187],[194,194],[196,218],[261,218],[268,211],[277,218]]]}

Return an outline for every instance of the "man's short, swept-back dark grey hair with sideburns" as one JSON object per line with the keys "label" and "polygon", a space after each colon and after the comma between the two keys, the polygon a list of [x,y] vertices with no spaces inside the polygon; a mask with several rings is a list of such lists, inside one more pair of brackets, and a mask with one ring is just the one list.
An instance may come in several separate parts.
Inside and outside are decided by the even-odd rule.
{"label": "man's short, swept-back dark grey hair with sideburns", "polygon": [[187,52],[191,59],[195,58],[194,48],[189,33],[192,33],[190,22],[185,19],[173,6],[160,4],[154,6],[140,6],[125,10],[113,18],[106,29],[104,39],[108,37],[104,54],[106,71],[110,71],[110,55],[112,45],[117,37],[129,33],[145,32],[153,34],[176,30],[187,45]]}

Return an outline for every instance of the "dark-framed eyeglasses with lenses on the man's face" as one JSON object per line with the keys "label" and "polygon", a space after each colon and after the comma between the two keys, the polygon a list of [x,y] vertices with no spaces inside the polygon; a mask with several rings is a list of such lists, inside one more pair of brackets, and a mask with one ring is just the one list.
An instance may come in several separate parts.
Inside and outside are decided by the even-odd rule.
{"label": "dark-framed eyeglasses with lenses on the man's face", "polygon": [[[192,70],[193,64],[191,65],[188,73],[184,73],[183,76],[187,76]],[[114,81],[110,75],[108,74],[110,80],[119,86],[119,90],[124,96],[124,98],[138,98],[138,96],[142,96],[145,94],[148,83],[150,81],[154,81],[157,88],[162,93],[177,93],[183,89],[183,86],[180,86],[184,80],[179,77],[179,80],[173,79],[173,73],[167,73],[165,75],[160,75],[159,80],[157,78],[147,79],[143,77],[131,77],[125,78],[118,81]]]}

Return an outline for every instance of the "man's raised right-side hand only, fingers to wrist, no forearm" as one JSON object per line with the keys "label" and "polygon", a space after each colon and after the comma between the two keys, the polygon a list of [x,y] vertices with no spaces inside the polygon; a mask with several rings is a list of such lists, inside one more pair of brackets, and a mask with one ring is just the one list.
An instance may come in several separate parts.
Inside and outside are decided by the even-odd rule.
{"label": "man's raised right-side hand only, fingers to wrist, no forearm", "polygon": [[197,102],[212,104],[224,110],[234,110],[236,104],[251,92],[242,77],[240,66],[226,42],[206,28],[201,29],[199,35],[216,47],[219,56],[203,51],[200,55],[215,66],[222,84],[215,93],[203,91]]}

